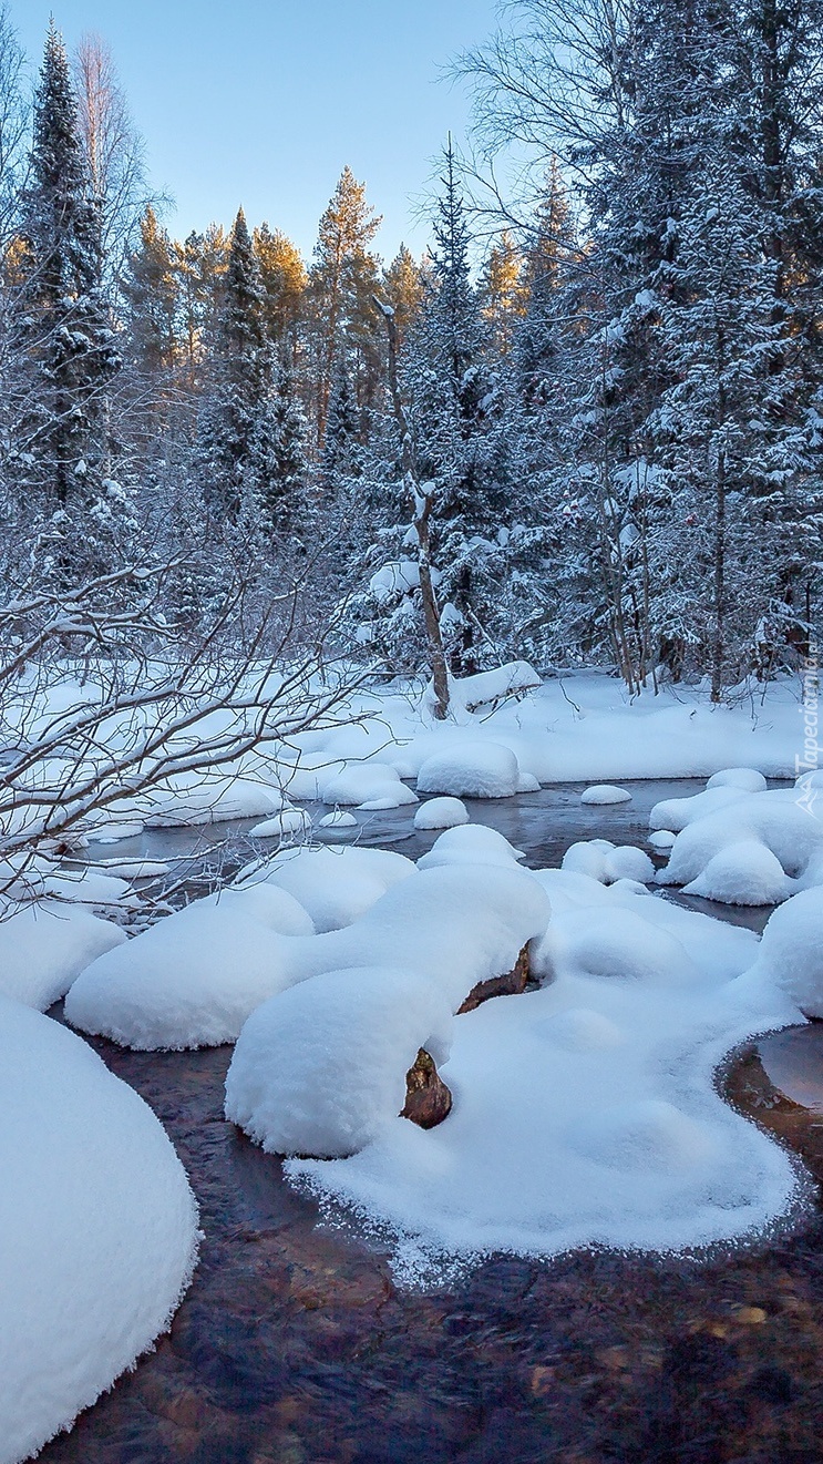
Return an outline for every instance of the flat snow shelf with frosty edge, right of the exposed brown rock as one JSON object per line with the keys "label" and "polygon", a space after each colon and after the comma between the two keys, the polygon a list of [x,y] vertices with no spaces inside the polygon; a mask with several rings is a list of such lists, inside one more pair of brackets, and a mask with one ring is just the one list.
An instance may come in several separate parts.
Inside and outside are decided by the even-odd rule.
{"label": "flat snow shelf with frosty edge, right of the exposed brown rock", "polygon": [[556,911],[533,946],[549,984],[455,1017],[445,1123],[384,1111],[353,1157],[288,1159],[293,1181],[388,1225],[400,1275],[423,1281],[492,1250],[710,1244],[791,1209],[792,1161],[713,1085],[737,1042],[800,1020],[747,972],[756,937],[625,883],[515,873]]}

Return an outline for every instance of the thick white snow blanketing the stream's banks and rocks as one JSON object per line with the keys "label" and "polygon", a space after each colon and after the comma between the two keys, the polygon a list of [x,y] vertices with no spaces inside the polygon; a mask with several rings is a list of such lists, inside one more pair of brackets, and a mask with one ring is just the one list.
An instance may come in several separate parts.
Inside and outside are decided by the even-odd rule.
{"label": "thick white snow blanketing the stream's banks and rocks", "polygon": [[[802,1176],[718,1097],[715,1072],[753,1034],[823,1012],[823,779],[794,783],[798,688],[712,707],[679,690],[630,703],[602,675],[529,682],[517,666],[463,684],[447,723],[425,692],[363,691],[322,728],[233,766],[124,789],[89,814],[86,836],[243,815],[262,817],[252,833],[271,840],[230,887],[130,938],[129,878],[157,868],[67,874],[44,851],[23,902],[18,856],[6,861],[0,1205],[13,1244],[0,1351],[15,1385],[0,1464],[151,1342],[193,1261],[192,1199],[160,1126],[79,1037],[32,1010],[64,991],[81,1032],[138,1048],[236,1042],[227,1117],[290,1155],[293,1183],[392,1233],[407,1277],[494,1249],[700,1247],[797,1203]],[[498,704],[513,685],[521,694]],[[38,798],[53,773],[41,770]],[[54,773],[63,791],[70,776]],[[637,777],[709,786],[658,804],[647,848],[627,848],[609,818],[631,798],[619,783]],[[527,870],[473,799],[564,780],[589,785],[583,805],[602,805],[603,837],[570,848],[562,870]],[[297,807],[308,799],[322,810]],[[436,842],[417,864],[302,846],[312,817],[356,840],[351,808],[394,808]],[[22,789],[7,827],[26,818]],[[660,899],[658,884],[783,903],[759,943]],[[460,1012],[523,947],[539,988]],[[420,1048],[454,1099],[432,1130],[398,1117]],[[44,1176],[59,1202],[38,1209]],[[63,1293],[57,1328],[47,1303]]]}

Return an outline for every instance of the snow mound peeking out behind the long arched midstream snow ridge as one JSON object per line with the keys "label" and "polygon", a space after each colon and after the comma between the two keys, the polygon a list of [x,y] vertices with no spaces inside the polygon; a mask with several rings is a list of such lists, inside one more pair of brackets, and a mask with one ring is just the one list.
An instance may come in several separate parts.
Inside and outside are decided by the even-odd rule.
{"label": "snow mound peeking out behind the long arched midstream snow ridge", "polygon": [[356,846],[322,849],[284,849],[265,870],[243,878],[259,880],[288,890],[309,912],[318,931],[340,930],[363,915],[398,880],[414,874],[411,859],[388,849]]}

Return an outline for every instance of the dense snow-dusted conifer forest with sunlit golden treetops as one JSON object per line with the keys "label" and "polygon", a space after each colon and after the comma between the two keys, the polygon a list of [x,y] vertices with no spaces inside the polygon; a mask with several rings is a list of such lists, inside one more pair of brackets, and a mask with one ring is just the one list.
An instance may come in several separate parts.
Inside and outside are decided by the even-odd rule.
{"label": "dense snow-dusted conifer forest with sunlit golden treetops", "polygon": [[308,261],[242,209],[170,239],[105,47],[51,34],[29,116],[6,19],[7,586],[174,561],[163,613],[198,634],[242,567],[409,673],[423,558],[458,675],[599,663],[720,697],[795,665],[823,523],[820,26],[800,0],[526,0],[463,59],[479,130],[472,165],[441,160],[431,252],[384,262],[350,168]]}

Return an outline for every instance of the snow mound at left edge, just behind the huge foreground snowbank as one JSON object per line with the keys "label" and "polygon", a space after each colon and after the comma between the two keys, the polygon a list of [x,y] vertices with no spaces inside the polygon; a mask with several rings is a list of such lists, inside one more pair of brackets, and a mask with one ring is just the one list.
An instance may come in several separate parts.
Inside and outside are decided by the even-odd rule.
{"label": "snow mound at left edge, just behind the huge foreground snowbank", "polygon": [[0,993],[41,1012],[104,952],[124,944],[110,921],[53,900],[7,906],[0,919]]}

